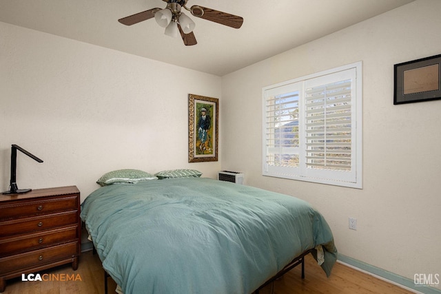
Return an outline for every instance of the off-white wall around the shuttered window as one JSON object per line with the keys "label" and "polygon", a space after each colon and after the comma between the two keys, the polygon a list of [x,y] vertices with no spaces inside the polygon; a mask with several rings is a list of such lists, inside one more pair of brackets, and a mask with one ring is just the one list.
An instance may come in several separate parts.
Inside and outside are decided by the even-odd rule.
{"label": "off-white wall around the shuttered window", "polygon": [[[441,54],[440,11],[441,1],[418,0],[222,81],[222,169],[311,202],[340,253],[411,280],[441,273],[441,100],[393,105],[393,65]],[[363,189],[261,176],[262,87],[356,61],[363,64]],[[348,229],[349,217],[358,219],[357,231]]]}

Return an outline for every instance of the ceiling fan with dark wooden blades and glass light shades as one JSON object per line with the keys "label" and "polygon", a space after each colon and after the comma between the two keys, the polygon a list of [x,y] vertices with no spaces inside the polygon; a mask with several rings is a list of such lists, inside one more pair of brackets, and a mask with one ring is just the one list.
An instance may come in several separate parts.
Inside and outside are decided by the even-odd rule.
{"label": "ceiling fan with dark wooden blades and glass light shades", "polygon": [[214,21],[215,23],[227,25],[231,28],[238,29],[243,23],[242,17],[238,17],[226,12],[220,12],[218,10],[197,5],[187,8],[188,0],[163,1],[167,2],[167,7],[164,9],[152,8],[128,17],[123,17],[118,21],[124,25],[134,25],[135,23],[146,21],[147,19],[152,19],[154,17],[156,19],[156,23],[165,28],[165,34],[167,36],[176,37],[178,36],[178,33],[180,33],[186,46],[196,45],[198,42],[196,41],[193,33],[195,23],[192,21],[192,19],[187,17],[186,14],[181,12],[182,8],[188,10],[194,17],[207,19],[207,21]]}

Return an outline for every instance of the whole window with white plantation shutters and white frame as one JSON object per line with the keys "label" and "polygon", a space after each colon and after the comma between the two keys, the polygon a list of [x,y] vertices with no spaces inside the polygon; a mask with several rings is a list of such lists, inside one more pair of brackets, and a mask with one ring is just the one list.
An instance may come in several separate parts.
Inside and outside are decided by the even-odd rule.
{"label": "whole window with white plantation shutters and white frame", "polygon": [[263,175],[362,187],[362,66],[263,88]]}

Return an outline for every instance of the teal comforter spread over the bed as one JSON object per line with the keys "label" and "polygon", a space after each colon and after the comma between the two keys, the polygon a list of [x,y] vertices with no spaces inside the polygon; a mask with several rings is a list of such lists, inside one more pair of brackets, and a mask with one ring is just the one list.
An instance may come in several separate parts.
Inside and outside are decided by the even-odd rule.
{"label": "teal comforter spread over the bed", "polygon": [[208,178],[97,189],[81,204],[103,268],[125,294],[244,294],[322,244],[327,222],[298,198]]}

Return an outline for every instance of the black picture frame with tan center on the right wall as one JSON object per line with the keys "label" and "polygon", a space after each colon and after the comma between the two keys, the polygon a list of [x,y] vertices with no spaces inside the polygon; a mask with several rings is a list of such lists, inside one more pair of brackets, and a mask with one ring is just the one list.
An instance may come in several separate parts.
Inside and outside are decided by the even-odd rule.
{"label": "black picture frame with tan center on the right wall", "polygon": [[393,65],[393,104],[441,99],[441,54]]}

